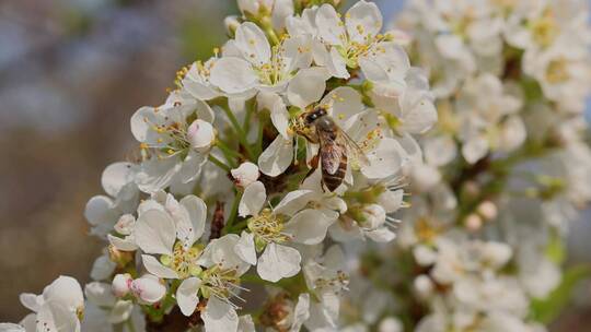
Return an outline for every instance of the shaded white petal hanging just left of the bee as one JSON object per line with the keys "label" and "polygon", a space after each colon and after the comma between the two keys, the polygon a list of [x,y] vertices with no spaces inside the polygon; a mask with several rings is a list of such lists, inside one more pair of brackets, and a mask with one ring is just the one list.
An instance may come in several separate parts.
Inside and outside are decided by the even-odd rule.
{"label": "shaded white petal hanging just left of the bee", "polygon": [[265,175],[276,177],[283,173],[293,159],[293,140],[277,135],[258,157],[258,168]]}

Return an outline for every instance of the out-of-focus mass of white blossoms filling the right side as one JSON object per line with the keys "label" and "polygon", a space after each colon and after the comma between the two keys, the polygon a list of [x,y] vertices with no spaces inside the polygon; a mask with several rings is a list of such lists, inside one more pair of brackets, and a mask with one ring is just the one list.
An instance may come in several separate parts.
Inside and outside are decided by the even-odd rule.
{"label": "out-of-focus mass of white blossoms filling the right side", "polygon": [[408,167],[393,248],[362,263],[391,290],[380,317],[405,331],[545,331],[588,275],[563,270],[568,224],[591,200],[588,15],[582,0],[410,0],[396,17],[439,121]]}

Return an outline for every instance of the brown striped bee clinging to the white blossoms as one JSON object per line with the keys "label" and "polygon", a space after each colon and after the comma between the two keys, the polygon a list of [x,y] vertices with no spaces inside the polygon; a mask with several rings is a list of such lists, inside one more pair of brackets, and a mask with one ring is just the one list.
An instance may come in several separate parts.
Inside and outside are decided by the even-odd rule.
{"label": "brown striped bee clinging to the white blossoms", "polygon": [[[327,106],[318,105],[300,116],[296,132],[309,142],[318,144],[318,153],[312,158],[308,176],[322,165],[322,183],[333,192],[343,183],[347,173],[349,154],[361,164],[369,164],[363,151],[343,131],[328,115]],[[320,159],[320,161],[318,161]],[[306,177],[308,177],[306,176]]]}

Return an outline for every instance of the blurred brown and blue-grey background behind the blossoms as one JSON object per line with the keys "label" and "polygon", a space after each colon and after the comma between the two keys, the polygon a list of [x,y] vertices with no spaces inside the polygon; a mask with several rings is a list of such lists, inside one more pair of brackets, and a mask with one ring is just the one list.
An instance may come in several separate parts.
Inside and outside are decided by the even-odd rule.
{"label": "blurred brown and blue-grey background behind the blossoms", "polygon": [[[385,19],[403,4],[375,2]],[[84,205],[135,144],[129,117],[209,57],[235,13],[234,0],[0,1],[0,321],[21,320],[19,294],[59,274],[89,281],[102,244]],[[571,263],[591,261],[591,214],[573,227]],[[582,331],[590,315],[576,301],[552,331]]]}

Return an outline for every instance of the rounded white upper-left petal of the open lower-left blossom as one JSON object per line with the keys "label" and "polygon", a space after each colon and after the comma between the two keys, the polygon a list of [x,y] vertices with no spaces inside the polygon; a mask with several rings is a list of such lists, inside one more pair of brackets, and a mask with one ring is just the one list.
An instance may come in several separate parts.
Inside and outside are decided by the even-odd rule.
{"label": "rounded white upper-left petal of the open lower-left blossom", "polygon": [[159,210],[144,212],[136,222],[134,234],[143,252],[172,256],[176,228],[167,213]]}

